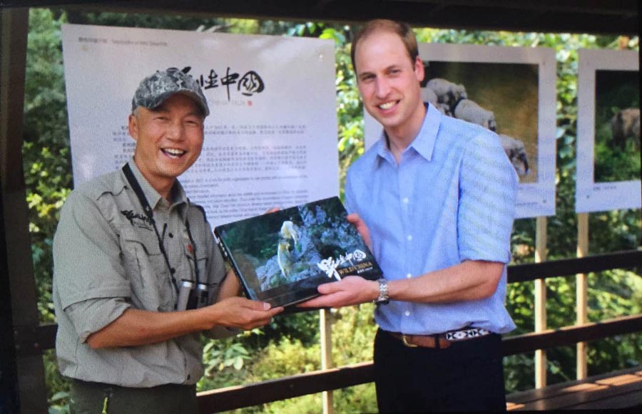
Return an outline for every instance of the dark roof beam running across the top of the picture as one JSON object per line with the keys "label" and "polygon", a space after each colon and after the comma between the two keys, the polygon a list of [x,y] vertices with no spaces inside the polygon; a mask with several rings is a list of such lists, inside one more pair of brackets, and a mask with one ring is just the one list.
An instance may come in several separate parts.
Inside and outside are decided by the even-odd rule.
{"label": "dark roof beam running across the top of the picture", "polygon": [[386,18],[418,27],[554,33],[638,33],[637,0],[4,0],[6,6],[63,6],[88,11],[183,14],[262,20]]}

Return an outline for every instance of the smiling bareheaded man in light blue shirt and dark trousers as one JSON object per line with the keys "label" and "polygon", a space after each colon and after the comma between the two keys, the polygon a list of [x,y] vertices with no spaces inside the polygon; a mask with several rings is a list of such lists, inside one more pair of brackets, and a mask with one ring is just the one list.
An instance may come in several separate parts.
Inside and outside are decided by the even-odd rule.
{"label": "smiling bareheaded man in light blue shirt and dark trousers", "polygon": [[384,279],[348,276],[303,306],[375,301],[382,412],[505,410],[501,333],[516,173],[489,130],[422,102],[424,67],[407,24],[375,20],[352,42],[379,141],[347,175],[349,218]]}

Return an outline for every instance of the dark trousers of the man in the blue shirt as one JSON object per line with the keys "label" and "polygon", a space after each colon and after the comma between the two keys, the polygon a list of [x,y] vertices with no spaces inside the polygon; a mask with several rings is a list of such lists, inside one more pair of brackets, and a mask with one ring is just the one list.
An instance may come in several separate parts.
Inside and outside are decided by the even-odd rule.
{"label": "dark trousers of the man in the blue shirt", "polygon": [[374,383],[381,413],[505,411],[501,336],[492,333],[445,349],[408,348],[379,329]]}

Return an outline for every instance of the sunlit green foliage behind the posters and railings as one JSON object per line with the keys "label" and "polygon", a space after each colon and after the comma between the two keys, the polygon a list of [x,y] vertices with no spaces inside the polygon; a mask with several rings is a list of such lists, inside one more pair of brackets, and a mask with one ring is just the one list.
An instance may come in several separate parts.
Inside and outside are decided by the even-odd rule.
{"label": "sunlit green foliage behind the posters and railings", "polygon": [[[31,9],[24,107],[24,171],[29,203],[31,247],[39,290],[41,321],[56,320],[51,304],[51,241],[58,214],[72,188],[71,153],[66,114],[61,56],[61,24],[148,27],[225,33],[310,36],[335,41],[337,92],[337,151],[341,186],[347,167],[364,151],[362,105],[350,63],[350,38],[354,28],[340,24],[305,24],[243,19],[202,19],[193,16],[90,13],[59,9]],[[628,48],[638,50],[638,38],[566,33],[513,33],[416,29],[419,41],[472,43],[499,46],[554,48],[557,58],[557,159],[556,215],[547,221],[547,257],[575,257],[577,215],[574,212],[577,123],[577,51],[579,48]],[[639,95],[638,95],[639,96]],[[638,103],[639,106],[639,97]],[[612,113],[611,113],[612,115]],[[604,115],[607,118],[611,115]],[[600,115],[601,116],[601,115]],[[617,154],[599,157],[610,162]],[[623,160],[640,175],[637,165]],[[628,173],[627,173],[628,174]],[[641,210],[627,209],[589,214],[591,254],[636,249],[641,244]],[[534,261],[535,219],[519,219],[512,235],[514,263]],[[600,321],[642,312],[640,269],[603,271],[588,275],[589,319]],[[518,328],[511,335],[534,330],[534,285],[509,285],[506,304]],[[546,310],[550,328],[575,322],[575,278],[547,279]],[[370,304],[330,313],[332,358],[335,366],[372,359],[373,307]],[[321,368],[319,315],[307,312],[278,316],[272,324],[236,338],[209,341],[203,338],[206,375],[199,390],[263,381]],[[504,358],[506,391],[534,387],[534,356]],[[51,413],[68,412],[68,383],[57,371],[54,351],[44,356]],[[642,338],[637,334],[616,336],[590,344],[588,374],[639,365]],[[575,348],[548,352],[549,384],[575,378]],[[259,407],[244,413],[318,413],[320,395],[306,395]],[[335,392],[337,412],[376,411],[374,386],[360,385]]]}

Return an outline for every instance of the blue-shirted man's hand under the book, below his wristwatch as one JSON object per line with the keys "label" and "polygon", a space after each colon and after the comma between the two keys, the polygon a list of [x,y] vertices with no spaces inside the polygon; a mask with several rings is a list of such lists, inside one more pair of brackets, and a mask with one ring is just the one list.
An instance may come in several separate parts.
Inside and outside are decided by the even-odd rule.
{"label": "blue-shirted man's hand under the book, below his wristwatch", "polygon": [[361,276],[345,276],[340,281],[320,285],[321,296],[297,306],[301,308],[340,308],[373,301],[379,296],[379,283]]}

